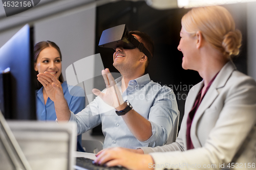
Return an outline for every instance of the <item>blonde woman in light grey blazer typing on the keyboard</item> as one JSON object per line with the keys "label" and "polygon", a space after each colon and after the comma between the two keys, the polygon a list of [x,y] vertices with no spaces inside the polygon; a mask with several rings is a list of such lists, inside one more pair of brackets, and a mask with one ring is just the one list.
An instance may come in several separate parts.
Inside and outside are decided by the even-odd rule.
{"label": "blonde woman in light grey blazer typing on the keyboard", "polygon": [[231,60],[239,54],[240,31],[220,6],[194,8],[181,25],[182,67],[198,71],[203,81],[188,93],[176,142],[132,152],[107,149],[95,162],[129,169],[255,169],[256,82]]}

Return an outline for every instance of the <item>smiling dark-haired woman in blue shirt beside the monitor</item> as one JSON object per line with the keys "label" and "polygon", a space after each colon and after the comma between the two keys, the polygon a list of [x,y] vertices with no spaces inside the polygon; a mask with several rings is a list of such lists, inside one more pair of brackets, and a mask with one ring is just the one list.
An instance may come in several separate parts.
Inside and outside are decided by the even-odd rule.
{"label": "smiling dark-haired woman in blue shirt beside the monitor", "polygon": [[[48,71],[60,82],[64,97],[73,113],[78,113],[85,107],[85,98],[72,96],[69,93],[66,81],[63,81],[61,74],[61,52],[59,47],[51,41],[41,41],[34,46],[34,69],[36,75],[39,72]],[[45,88],[36,78],[36,114],[38,120],[56,120],[56,113],[53,101],[48,97]],[[77,136],[77,151],[83,151],[81,147],[81,135]]]}

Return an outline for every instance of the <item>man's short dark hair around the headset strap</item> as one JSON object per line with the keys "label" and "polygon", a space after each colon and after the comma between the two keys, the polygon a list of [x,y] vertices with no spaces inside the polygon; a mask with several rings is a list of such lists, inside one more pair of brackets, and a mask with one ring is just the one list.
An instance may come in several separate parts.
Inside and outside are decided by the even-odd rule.
{"label": "man's short dark hair around the headset strap", "polygon": [[[140,32],[140,31],[130,31],[129,34],[138,35],[141,38],[141,42],[144,44],[146,49],[151,53],[151,55],[153,57],[153,54],[154,54],[154,41],[151,39],[150,36],[148,36],[145,33]],[[150,62],[147,60],[145,68],[148,66],[149,63]]]}

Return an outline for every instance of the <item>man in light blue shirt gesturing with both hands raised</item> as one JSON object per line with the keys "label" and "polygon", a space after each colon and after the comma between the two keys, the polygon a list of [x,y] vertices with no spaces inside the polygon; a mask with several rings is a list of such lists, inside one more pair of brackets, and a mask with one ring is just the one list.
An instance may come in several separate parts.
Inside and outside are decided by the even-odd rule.
{"label": "man in light blue shirt gesturing with both hands raised", "polygon": [[[106,89],[102,92],[93,89],[98,97],[90,103],[90,108],[86,107],[76,115],[69,110],[62,97],[61,85],[54,76],[45,72],[37,76],[38,80],[54,101],[58,121],[76,121],[79,134],[102,123],[105,136],[103,148],[136,149],[164,145],[176,117],[179,116],[175,94],[172,89],[154,83],[145,74],[154,51],[151,38],[133,31],[127,34],[126,40],[124,41],[132,44],[120,44],[119,41],[113,55],[113,65],[122,77],[114,80],[108,68],[102,70]],[[104,47],[113,45],[106,44]],[[104,106],[102,101],[116,110],[100,114],[99,110]]]}

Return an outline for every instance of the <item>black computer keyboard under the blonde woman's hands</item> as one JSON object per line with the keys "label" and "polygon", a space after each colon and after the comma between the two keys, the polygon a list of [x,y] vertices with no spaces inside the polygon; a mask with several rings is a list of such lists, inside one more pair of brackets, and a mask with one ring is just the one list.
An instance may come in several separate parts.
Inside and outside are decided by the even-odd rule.
{"label": "black computer keyboard under the blonde woman's hands", "polygon": [[[125,167],[113,166],[113,167],[106,167],[106,166],[99,166],[93,164],[92,159],[84,158],[84,157],[77,157],[76,158],[76,166],[82,167],[88,170],[128,170]],[[76,169],[80,169],[77,168]]]}

